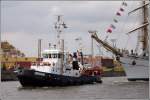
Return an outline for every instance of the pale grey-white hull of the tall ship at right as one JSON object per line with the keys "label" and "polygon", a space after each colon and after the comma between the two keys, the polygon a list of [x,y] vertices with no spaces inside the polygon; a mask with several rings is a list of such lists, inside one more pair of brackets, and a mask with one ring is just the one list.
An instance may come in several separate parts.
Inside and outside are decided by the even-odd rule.
{"label": "pale grey-white hull of the tall ship at right", "polygon": [[[121,57],[120,61],[125,70],[127,79],[134,80],[149,80],[149,60],[133,57]],[[133,63],[135,61],[135,63]]]}

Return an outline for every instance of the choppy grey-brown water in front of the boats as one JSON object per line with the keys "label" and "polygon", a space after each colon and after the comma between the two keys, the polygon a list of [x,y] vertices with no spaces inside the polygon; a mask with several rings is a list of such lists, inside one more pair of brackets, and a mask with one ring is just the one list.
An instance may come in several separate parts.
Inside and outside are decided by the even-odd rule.
{"label": "choppy grey-brown water in front of the boats", "polygon": [[22,88],[19,82],[1,83],[2,100],[98,100],[149,98],[149,82],[128,82],[124,77],[103,78],[102,84]]}

